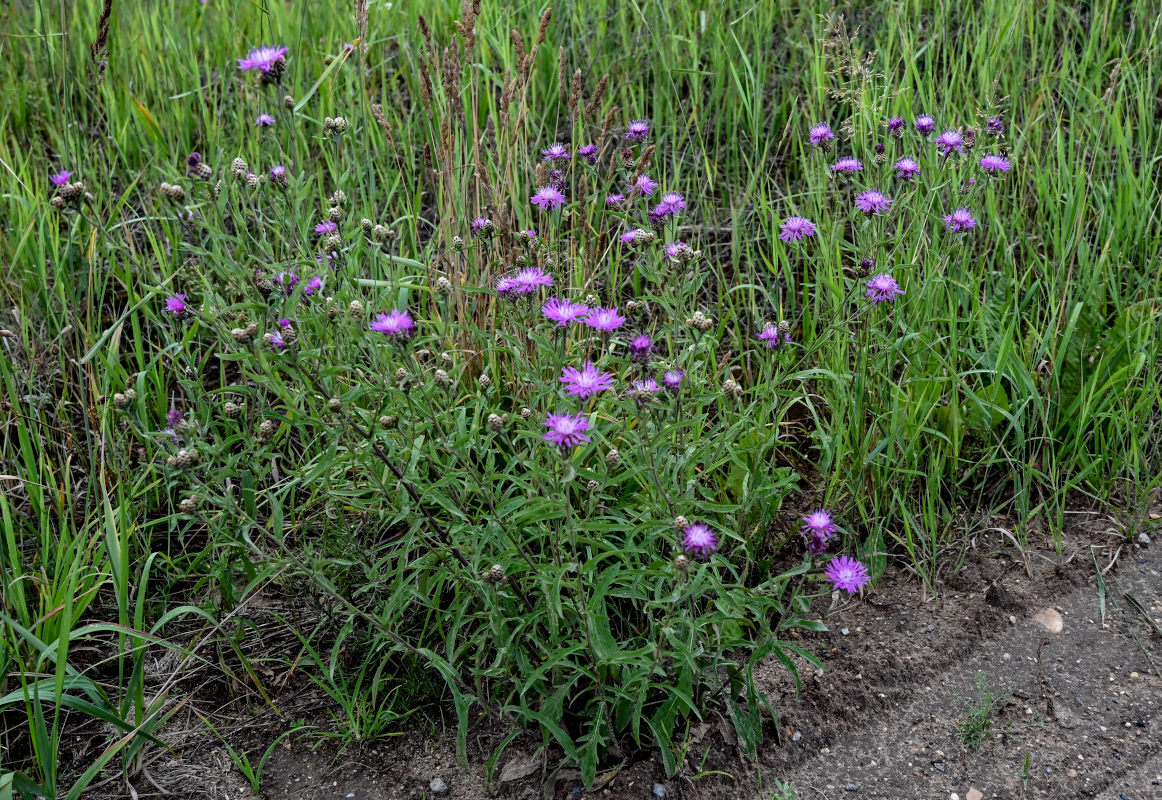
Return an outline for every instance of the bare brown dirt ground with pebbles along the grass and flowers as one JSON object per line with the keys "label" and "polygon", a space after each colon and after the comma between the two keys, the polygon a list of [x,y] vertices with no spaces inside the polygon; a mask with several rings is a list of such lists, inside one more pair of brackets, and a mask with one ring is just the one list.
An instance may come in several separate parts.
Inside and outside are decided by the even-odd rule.
{"label": "bare brown dirt ground with pebbles along the grass and flowers", "polygon": [[[677,776],[667,778],[655,755],[641,753],[600,776],[593,794],[770,800],[780,798],[777,780],[794,784],[797,800],[1162,800],[1162,530],[1154,524],[1154,542],[1136,545],[1109,516],[1079,512],[1060,552],[1021,552],[999,530],[982,534],[935,597],[889,566],[862,598],[817,602],[830,630],[799,643],[827,669],[808,667],[802,692],[777,663],[761,667],[760,687],[781,719],[756,760],[710,719],[691,728]],[[282,701],[287,719],[322,724],[324,707],[310,692]],[[282,729],[256,716],[254,760]],[[545,771],[554,753],[538,752],[532,736],[496,765],[497,774],[523,774],[487,786],[485,762],[503,734],[473,735],[469,770],[435,731],[343,749],[318,737],[285,740],[265,766],[260,797],[586,794],[575,771]],[[157,764],[151,781],[170,797],[196,786],[191,795],[254,799],[213,742]]]}

